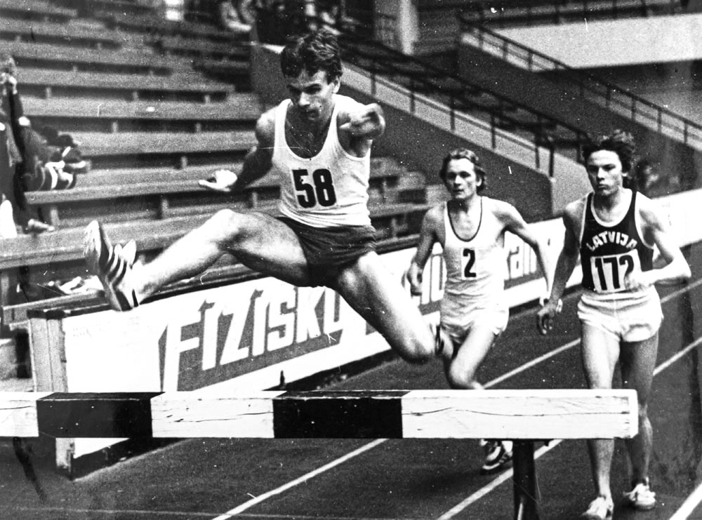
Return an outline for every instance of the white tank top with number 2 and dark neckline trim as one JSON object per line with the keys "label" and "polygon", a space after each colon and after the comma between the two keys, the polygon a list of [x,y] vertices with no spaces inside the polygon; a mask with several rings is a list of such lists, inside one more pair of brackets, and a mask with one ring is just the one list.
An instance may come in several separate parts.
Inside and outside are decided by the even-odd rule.
{"label": "white tank top with number 2 and dark neckline trim", "polygon": [[491,211],[491,199],[482,196],[481,204],[480,224],[468,240],[456,235],[448,206],[444,204],[444,298],[448,296],[451,300],[464,302],[482,300],[486,304],[502,303],[507,268],[503,225],[495,217],[494,211]]}

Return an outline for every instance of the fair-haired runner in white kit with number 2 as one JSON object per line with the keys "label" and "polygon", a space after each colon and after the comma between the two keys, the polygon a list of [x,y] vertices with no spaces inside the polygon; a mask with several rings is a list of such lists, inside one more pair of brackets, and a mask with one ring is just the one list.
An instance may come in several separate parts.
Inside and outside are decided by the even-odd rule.
{"label": "fair-haired runner in white kit with number 2", "polygon": [[[446,286],[437,344],[446,380],[454,389],[482,389],[475,375],[509,317],[504,293],[505,232],[514,233],[534,249],[548,292],[550,262],[545,244],[514,206],[481,194],[486,173],[474,152],[465,148],[449,152],[439,177],[451,199],[426,213],[406,276],[411,293],[420,295],[424,266],[434,245],[442,246]],[[481,445],[484,474],[498,471],[512,459],[512,441],[481,441]]]}

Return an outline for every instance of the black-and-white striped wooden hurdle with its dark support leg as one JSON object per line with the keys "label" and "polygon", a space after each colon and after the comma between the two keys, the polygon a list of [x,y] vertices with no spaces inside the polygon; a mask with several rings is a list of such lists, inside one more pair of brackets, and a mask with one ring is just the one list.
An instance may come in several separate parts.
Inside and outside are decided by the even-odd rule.
{"label": "black-and-white striped wooden hurdle with its dark support leg", "polygon": [[538,520],[534,441],[630,438],[634,390],[0,392],[0,436],[511,439],[515,519]]}

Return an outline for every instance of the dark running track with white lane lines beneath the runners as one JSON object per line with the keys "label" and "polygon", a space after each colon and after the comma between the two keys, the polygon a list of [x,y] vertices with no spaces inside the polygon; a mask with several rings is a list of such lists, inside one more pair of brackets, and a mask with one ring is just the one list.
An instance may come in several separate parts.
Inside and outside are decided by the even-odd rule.
{"label": "dark running track with white lane lines beneath the runners", "polygon": [[[702,246],[689,251],[693,279],[659,288],[665,320],[651,401],[652,484],[658,507],[615,518],[702,519],[702,405],[698,346],[702,320]],[[699,265],[698,265],[699,264]],[[479,379],[493,388],[583,387],[575,305],[547,338],[524,309],[486,360]],[[334,389],[444,388],[438,363],[390,361]],[[18,520],[491,520],[512,518],[511,471],[478,472],[477,441],[358,439],[190,439],[68,481],[34,454],[46,500],[0,441],[0,519]],[[584,441],[538,446],[541,518],[577,518],[592,498]],[[628,488],[623,443],[612,469],[615,497]]]}

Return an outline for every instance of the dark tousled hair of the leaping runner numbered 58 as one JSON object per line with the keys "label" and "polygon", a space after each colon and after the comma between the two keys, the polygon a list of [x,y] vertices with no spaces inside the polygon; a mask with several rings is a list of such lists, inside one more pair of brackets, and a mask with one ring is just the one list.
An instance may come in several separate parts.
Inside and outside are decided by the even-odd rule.
{"label": "dark tousled hair of the leaping runner numbered 58", "polygon": [[287,77],[297,77],[303,71],[312,76],[322,70],[329,83],[340,78],[341,53],[336,36],[319,29],[294,39],[280,54],[280,68]]}

